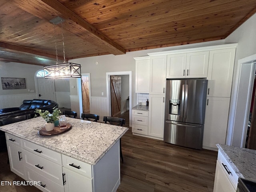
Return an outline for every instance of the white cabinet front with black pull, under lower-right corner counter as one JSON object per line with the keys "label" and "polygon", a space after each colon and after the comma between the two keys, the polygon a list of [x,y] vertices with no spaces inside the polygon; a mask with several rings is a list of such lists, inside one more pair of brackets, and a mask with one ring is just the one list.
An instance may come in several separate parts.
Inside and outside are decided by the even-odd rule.
{"label": "white cabinet front with black pull, under lower-right corner counter", "polygon": [[213,192],[236,192],[238,175],[218,151]]}

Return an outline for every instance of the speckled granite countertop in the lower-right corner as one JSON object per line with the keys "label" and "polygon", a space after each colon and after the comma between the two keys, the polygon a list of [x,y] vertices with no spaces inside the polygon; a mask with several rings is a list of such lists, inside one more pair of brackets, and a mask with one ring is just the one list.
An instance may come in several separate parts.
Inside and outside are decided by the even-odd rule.
{"label": "speckled granite countertop in the lower-right corner", "polygon": [[238,177],[256,181],[256,150],[217,144]]}

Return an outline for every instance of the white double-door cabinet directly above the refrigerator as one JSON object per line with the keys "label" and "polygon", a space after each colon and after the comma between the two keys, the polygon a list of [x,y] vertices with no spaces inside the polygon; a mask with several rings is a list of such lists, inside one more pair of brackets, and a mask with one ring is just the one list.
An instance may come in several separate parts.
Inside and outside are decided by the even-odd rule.
{"label": "white double-door cabinet directly above the refrigerator", "polygon": [[167,55],[166,78],[206,78],[209,51]]}

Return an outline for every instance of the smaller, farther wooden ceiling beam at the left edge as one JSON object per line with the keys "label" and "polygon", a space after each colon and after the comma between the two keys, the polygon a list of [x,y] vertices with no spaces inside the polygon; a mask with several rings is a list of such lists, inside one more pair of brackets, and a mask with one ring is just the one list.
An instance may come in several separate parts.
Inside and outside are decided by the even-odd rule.
{"label": "smaller, farther wooden ceiling beam at the left edge", "polygon": [[[4,42],[0,42],[0,50],[19,53],[19,54],[25,54],[25,55],[30,55],[30,56],[37,56],[37,57],[44,58],[44,59],[50,59],[50,58],[56,59],[56,55],[24,48],[22,46],[11,45],[11,44],[7,44]],[[62,56],[58,56],[58,58],[61,60],[64,60],[64,58]],[[66,61],[68,61],[67,58],[66,58]]]}

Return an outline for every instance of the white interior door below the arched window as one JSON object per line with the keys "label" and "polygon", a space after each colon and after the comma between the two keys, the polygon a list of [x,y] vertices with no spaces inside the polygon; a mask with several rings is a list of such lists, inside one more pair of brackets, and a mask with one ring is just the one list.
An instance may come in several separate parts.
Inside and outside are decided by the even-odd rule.
{"label": "white interior door below the arched window", "polygon": [[37,87],[38,87],[37,89],[38,98],[56,101],[54,80],[45,79],[45,78],[36,78],[36,79],[37,79]]}

